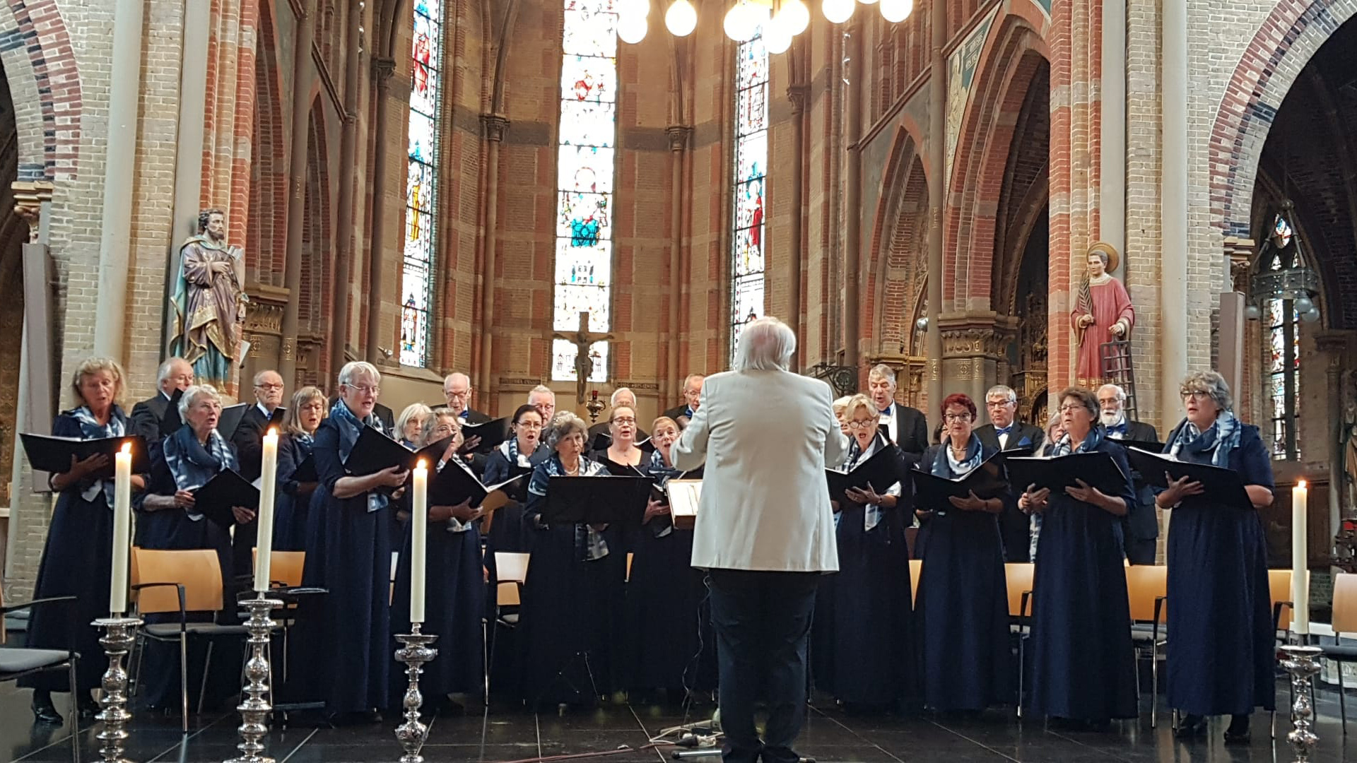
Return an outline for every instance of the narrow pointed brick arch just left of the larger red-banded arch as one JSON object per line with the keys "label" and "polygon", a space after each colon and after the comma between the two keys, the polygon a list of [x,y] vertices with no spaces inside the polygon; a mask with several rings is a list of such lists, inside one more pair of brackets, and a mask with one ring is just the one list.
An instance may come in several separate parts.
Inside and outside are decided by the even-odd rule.
{"label": "narrow pointed brick arch just left of the larger red-banded arch", "polygon": [[867,267],[873,318],[866,330],[882,354],[906,352],[911,307],[928,269],[928,179],[920,145],[908,126],[898,128],[873,229]]}

